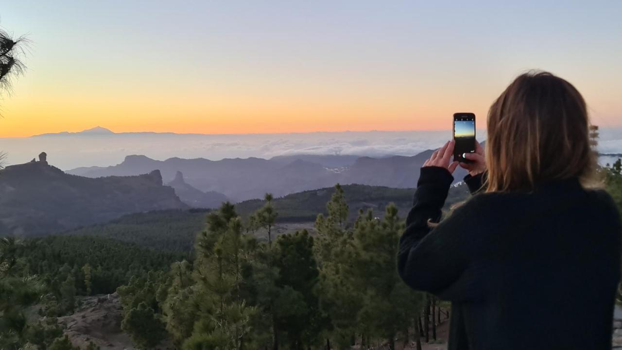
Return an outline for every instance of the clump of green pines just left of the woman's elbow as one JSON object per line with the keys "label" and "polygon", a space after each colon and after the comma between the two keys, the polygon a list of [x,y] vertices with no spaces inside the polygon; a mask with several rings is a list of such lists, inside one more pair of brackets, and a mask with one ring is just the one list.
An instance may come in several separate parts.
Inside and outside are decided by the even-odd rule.
{"label": "clump of green pines just left of the woman's elbow", "polygon": [[422,295],[408,288],[397,274],[398,241],[404,224],[398,208],[386,206],[384,219],[361,210],[353,227],[346,227],[346,201],[340,187],[327,205],[328,216],[318,215],[320,307],[330,318],[328,338],[348,348],[353,334],[387,339],[409,328],[412,315],[422,308]]}

